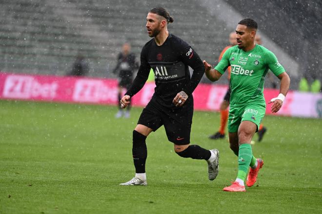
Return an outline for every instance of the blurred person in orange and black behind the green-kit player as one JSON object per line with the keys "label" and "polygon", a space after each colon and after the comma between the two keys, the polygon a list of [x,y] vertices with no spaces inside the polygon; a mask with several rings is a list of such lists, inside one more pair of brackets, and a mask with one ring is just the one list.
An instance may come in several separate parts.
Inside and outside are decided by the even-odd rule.
{"label": "blurred person in orange and black behind the green-kit player", "polygon": [[[232,46],[237,45],[237,34],[236,32],[231,32],[229,34],[229,43],[230,45],[226,46],[222,51],[221,54],[218,58],[218,62],[220,62],[222,55],[226,52],[226,50]],[[255,36],[255,43],[262,45],[262,39],[260,35],[256,35]],[[230,72],[231,72],[231,68],[230,66],[227,68],[228,71],[228,80],[230,81]],[[269,78],[271,80],[272,75],[269,75]],[[217,139],[222,139],[225,137],[225,128],[226,128],[226,124],[228,121],[228,115],[229,115],[229,103],[230,103],[230,94],[231,94],[231,88],[230,88],[230,84],[229,84],[229,88],[225,94],[225,96],[223,97],[223,101],[221,102],[220,105],[220,126],[219,126],[219,130],[218,132],[216,132],[215,134],[209,136],[210,139],[213,140],[217,140]],[[258,141],[261,142],[262,138],[265,134],[265,132],[267,131],[267,128],[264,127],[262,124],[260,125],[259,131],[258,133]]]}

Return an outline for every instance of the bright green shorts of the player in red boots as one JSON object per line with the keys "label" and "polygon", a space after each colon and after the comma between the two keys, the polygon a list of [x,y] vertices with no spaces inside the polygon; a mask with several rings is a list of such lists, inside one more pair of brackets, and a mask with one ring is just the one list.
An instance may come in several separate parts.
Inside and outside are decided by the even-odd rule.
{"label": "bright green shorts of the player in red boots", "polygon": [[257,125],[256,132],[264,118],[266,105],[264,103],[248,103],[242,107],[230,107],[228,117],[228,132],[237,132],[241,121],[251,121]]}

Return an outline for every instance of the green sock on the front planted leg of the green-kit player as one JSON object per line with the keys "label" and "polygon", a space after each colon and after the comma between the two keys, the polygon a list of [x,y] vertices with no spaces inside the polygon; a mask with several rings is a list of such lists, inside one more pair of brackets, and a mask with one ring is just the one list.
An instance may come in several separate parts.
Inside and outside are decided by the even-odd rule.
{"label": "green sock on the front planted leg of the green-kit player", "polygon": [[245,180],[252,157],[251,145],[247,143],[241,144],[239,146],[237,178]]}

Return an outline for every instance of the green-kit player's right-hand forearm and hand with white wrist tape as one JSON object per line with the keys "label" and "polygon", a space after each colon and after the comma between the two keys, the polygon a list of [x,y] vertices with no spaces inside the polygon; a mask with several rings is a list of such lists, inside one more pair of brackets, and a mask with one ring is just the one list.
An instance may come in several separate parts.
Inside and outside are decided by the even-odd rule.
{"label": "green-kit player's right-hand forearm and hand with white wrist tape", "polygon": [[268,103],[273,103],[271,107],[272,113],[278,112],[281,109],[291,82],[290,77],[286,72],[281,73],[277,77],[281,80],[280,94],[278,97],[275,97],[268,102]]}

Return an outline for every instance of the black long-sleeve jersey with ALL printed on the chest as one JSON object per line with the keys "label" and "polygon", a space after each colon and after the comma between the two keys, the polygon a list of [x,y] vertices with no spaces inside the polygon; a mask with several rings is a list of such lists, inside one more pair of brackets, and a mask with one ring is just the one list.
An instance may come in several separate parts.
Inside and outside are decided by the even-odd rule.
{"label": "black long-sleeve jersey with ALL printed on the chest", "polygon": [[[193,69],[191,78],[188,66]],[[191,99],[204,73],[199,55],[181,38],[169,34],[161,46],[153,38],[142,48],[138,74],[126,95],[132,97],[142,89],[151,68],[156,83],[153,98],[164,107],[174,107],[172,101],[181,90]]]}

